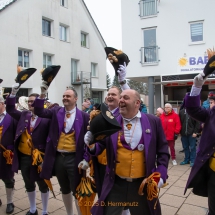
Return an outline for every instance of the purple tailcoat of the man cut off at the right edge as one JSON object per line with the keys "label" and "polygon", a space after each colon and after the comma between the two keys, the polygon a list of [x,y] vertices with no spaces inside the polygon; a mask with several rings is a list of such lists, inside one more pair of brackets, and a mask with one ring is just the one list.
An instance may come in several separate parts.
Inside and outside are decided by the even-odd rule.
{"label": "purple tailcoat of the man cut off at the right edge", "polygon": [[195,163],[191,169],[185,192],[187,188],[193,188],[194,194],[207,197],[208,188],[205,174],[207,168],[205,167],[208,165],[208,159],[215,152],[215,107],[211,110],[202,108],[200,106],[200,96],[189,96],[189,94],[184,99],[184,106],[191,117],[205,123]]}

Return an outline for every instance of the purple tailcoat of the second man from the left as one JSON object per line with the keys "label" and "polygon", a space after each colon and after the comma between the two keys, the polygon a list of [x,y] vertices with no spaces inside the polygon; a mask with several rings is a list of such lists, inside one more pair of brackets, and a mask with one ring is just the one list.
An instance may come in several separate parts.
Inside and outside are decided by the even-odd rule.
{"label": "purple tailcoat of the second man from the left", "polygon": [[[12,170],[14,172],[18,172],[19,167],[19,157],[18,157],[18,146],[22,133],[29,127],[29,122],[31,120],[31,112],[30,111],[18,111],[15,108],[16,98],[7,97],[6,100],[6,110],[11,117],[18,121],[15,135],[15,148],[14,148],[14,158],[12,164]],[[34,147],[39,149],[42,152],[45,152],[46,148],[46,139],[49,131],[49,123],[50,120],[37,118],[36,124],[34,126],[34,130],[31,134],[32,142]],[[37,166],[31,166],[30,169],[30,179],[32,181],[41,180],[40,175],[37,171]]]}

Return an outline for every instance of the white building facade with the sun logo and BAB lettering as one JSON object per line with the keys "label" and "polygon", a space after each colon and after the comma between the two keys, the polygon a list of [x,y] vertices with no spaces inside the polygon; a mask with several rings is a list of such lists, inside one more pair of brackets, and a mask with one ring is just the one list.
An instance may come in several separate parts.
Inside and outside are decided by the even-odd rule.
{"label": "white building facade with the sun logo and BAB lettering", "polygon": [[[179,107],[207,63],[206,50],[215,45],[209,13],[215,1],[122,0],[121,5],[122,48],[131,60],[127,78],[148,83],[150,113],[166,102]],[[214,83],[211,75],[202,100]]]}

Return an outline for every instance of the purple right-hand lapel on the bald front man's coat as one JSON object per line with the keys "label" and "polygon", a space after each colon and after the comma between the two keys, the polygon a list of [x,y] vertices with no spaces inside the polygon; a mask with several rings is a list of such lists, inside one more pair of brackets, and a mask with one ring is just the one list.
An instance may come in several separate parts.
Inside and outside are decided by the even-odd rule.
{"label": "purple right-hand lapel on the bald front man's coat", "polygon": [[141,113],[141,125],[142,125],[142,132],[143,132],[143,138],[144,138],[145,156],[147,159],[149,144],[152,138],[152,129],[151,129],[151,125],[148,120],[148,117],[143,113]]}

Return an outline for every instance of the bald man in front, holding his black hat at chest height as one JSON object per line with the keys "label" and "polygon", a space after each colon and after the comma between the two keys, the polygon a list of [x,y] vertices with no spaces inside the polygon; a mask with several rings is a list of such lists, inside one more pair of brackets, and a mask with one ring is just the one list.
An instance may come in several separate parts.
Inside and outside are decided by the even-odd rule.
{"label": "bald man in front, holding his black hat at chest height", "polygon": [[[121,214],[125,206],[131,214],[161,214],[159,200],[147,200],[146,189],[143,196],[138,194],[138,189],[153,172],[161,174],[158,187],[166,181],[168,144],[160,120],[140,113],[139,107],[139,93],[124,90],[119,101],[121,115],[117,118],[122,130],[88,150],[92,156],[104,148],[107,150],[106,174],[100,198],[91,210],[93,215]],[[92,133],[87,132],[85,143],[89,144],[92,138]]]}

